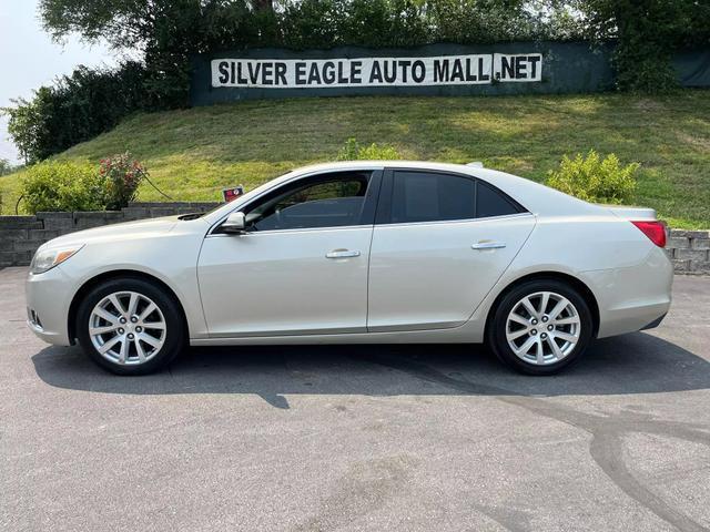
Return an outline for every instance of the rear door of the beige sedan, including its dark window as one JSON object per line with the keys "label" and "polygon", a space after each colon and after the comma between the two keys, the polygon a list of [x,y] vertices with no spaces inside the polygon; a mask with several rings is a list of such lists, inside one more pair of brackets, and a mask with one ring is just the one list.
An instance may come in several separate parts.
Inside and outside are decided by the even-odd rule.
{"label": "rear door of the beige sedan, including its dark window", "polygon": [[530,213],[471,176],[387,171],[371,247],[367,330],[464,324],[534,226]]}

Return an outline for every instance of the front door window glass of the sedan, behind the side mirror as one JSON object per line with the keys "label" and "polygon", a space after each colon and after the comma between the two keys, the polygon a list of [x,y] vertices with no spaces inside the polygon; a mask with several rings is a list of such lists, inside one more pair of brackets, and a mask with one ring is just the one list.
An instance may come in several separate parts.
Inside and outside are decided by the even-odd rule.
{"label": "front door window glass of the sedan, behind the side mirror", "polygon": [[248,209],[254,231],[358,225],[372,172],[318,176],[276,192]]}

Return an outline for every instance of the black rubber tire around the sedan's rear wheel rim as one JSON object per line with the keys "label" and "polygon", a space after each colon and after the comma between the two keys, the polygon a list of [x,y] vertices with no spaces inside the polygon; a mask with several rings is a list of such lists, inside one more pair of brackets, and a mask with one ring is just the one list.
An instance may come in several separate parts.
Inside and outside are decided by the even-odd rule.
{"label": "black rubber tire around the sedan's rear wheel rim", "polygon": [[[507,328],[507,319],[514,308],[525,297],[531,296],[537,293],[549,291],[557,295],[560,295],[569,300],[577,310],[577,315],[579,317],[579,330],[578,330],[578,340],[574,346],[571,351],[567,354],[564,358],[557,361],[550,361],[549,364],[535,364],[532,361],[524,360],[524,358],[518,357],[513,348],[508,344],[508,339],[506,337],[506,328]],[[532,303],[538,303],[539,306],[542,305],[541,299],[535,299]],[[535,306],[535,305],[534,305]],[[550,307],[548,306],[548,310]],[[517,311],[516,311],[517,313]],[[532,316],[529,317],[532,319]],[[548,318],[549,319],[549,318]],[[540,324],[541,325],[541,324]],[[549,321],[547,326],[541,326],[540,330],[535,329],[537,335],[546,335],[547,332],[545,328],[549,327]],[[554,326],[554,331],[559,327],[560,331],[564,332],[565,328],[568,326]],[[569,326],[571,327],[571,326]],[[520,326],[520,330],[523,330],[524,326]],[[513,330],[513,329],[511,329]],[[569,329],[568,329],[569,330]],[[570,285],[560,282],[558,279],[532,279],[529,282],[521,283],[518,286],[513,287],[508,290],[503,298],[498,301],[496,307],[493,309],[491,319],[488,323],[488,329],[486,331],[486,342],[488,347],[496,354],[496,356],[503,360],[506,365],[511,368],[527,375],[536,375],[536,376],[545,376],[545,375],[554,375],[561,371],[564,368],[569,367],[571,364],[579,360],[579,358],[585,354],[589,342],[592,339],[594,335],[594,320],[591,317],[591,311],[589,310],[589,305],[584,297]],[[527,338],[529,338],[531,334],[527,336],[524,335],[520,340],[521,344],[525,342]],[[546,349],[550,349],[551,347],[548,341],[557,341],[555,339],[545,340],[542,345],[545,345]],[[564,340],[562,340],[564,341]],[[534,345],[537,349],[536,345]],[[523,346],[517,346],[523,347]],[[525,348],[524,348],[525,349]],[[551,354],[550,354],[551,355]],[[531,356],[531,355],[530,355]]]}

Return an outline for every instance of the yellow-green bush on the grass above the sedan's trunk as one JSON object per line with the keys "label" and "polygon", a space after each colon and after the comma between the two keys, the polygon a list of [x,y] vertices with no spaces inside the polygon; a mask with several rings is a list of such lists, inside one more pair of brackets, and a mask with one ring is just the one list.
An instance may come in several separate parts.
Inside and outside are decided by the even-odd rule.
{"label": "yellow-green bush on the grass above the sedan's trunk", "polygon": [[547,185],[587,202],[621,204],[631,202],[636,190],[638,163],[621,166],[611,153],[604,161],[594,150],[562,157],[559,170],[550,171]]}

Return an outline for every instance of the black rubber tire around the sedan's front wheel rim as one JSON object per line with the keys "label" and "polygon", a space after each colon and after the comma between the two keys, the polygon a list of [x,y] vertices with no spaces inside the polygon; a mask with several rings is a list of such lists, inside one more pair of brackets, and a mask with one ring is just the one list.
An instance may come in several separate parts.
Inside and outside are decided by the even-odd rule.
{"label": "black rubber tire around the sedan's front wheel rim", "polygon": [[[104,358],[94,347],[89,334],[90,319],[94,307],[106,296],[121,291],[133,291],[148,297],[158,306],[164,318],[164,331],[159,331],[160,335],[164,335],[161,338],[163,344],[151,358],[148,358],[142,364],[135,360],[130,365],[119,364]],[[149,327],[145,328],[148,329]],[[166,293],[164,288],[136,277],[110,279],[91,289],[77,310],[75,331],[79,344],[92,361],[112,374],[125,376],[146,375],[164,368],[184,349],[187,337],[182,308],[175,297]],[[141,344],[141,346],[149,347],[145,344]],[[134,357],[136,357],[135,354]]]}

